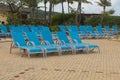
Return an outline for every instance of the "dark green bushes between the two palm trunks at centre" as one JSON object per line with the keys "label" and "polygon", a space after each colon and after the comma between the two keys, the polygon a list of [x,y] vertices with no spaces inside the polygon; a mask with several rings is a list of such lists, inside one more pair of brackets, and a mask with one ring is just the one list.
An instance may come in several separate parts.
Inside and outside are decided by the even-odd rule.
{"label": "dark green bushes between the two palm trunks at centre", "polygon": [[52,25],[74,24],[74,14],[56,14],[52,17]]}

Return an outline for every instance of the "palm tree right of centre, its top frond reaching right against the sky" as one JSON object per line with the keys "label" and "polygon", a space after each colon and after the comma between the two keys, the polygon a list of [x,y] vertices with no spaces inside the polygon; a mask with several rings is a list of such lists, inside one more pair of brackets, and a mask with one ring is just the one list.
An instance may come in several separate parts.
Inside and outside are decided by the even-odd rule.
{"label": "palm tree right of centre, its top frond reaching right against the sky", "polygon": [[[91,3],[91,2],[87,0],[76,0],[76,1],[78,1],[78,7],[76,11],[75,23],[76,25],[79,25],[79,22],[81,22],[82,3]],[[79,16],[79,22],[78,22],[78,16]]]}

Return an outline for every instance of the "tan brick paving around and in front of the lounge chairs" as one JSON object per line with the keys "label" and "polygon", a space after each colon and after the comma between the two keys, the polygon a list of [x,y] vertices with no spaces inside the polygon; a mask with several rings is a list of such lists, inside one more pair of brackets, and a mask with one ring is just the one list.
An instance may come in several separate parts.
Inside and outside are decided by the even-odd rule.
{"label": "tan brick paving around and in front of the lounge chairs", "polygon": [[[0,42],[0,80],[120,80],[120,42],[87,40],[100,46],[101,53],[63,53],[20,57],[9,53],[11,42]],[[97,50],[95,50],[97,51]]]}

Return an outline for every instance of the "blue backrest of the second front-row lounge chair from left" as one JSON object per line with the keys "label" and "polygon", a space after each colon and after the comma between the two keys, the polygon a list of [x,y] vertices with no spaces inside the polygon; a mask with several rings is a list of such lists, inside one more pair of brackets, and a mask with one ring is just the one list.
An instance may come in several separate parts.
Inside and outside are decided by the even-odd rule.
{"label": "blue backrest of the second front-row lounge chair from left", "polygon": [[35,46],[40,46],[41,43],[39,41],[39,38],[36,36],[34,32],[27,32],[27,37],[30,42],[33,42]]}

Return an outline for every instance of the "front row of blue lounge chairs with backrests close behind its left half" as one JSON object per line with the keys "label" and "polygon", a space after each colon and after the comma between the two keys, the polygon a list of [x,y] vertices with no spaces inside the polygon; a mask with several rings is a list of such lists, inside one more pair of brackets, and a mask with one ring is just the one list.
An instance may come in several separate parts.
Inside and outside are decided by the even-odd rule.
{"label": "front row of blue lounge chairs with backrests close behind its left half", "polygon": [[[98,49],[99,46],[96,44],[83,43],[76,32],[69,32],[67,35],[65,32],[56,32],[57,40],[53,40],[53,35],[48,27],[35,26],[30,27],[29,30],[25,26],[14,27],[11,26],[11,36],[13,38],[13,43],[10,47],[10,53],[12,53],[12,48],[17,47],[20,49],[20,55],[23,56],[24,52],[28,53],[28,57],[31,54],[42,54],[47,56],[48,53],[57,52],[58,55],[62,55],[64,51],[71,51],[72,54],[76,54],[78,50],[83,50],[89,53],[93,49]],[[37,31],[40,30],[38,33]],[[71,41],[68,36],[70,36]]]}

